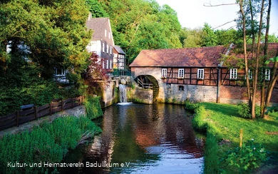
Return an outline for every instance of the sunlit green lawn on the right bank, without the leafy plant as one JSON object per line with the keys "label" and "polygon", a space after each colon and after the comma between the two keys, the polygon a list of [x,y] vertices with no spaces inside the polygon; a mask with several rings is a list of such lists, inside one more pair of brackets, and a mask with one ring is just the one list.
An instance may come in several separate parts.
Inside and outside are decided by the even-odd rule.
{"label": "sunlit green lawn on the right bank, without the leafy plant", "polygon": [[[205,111],[197,114],[197,120],[207,125],[207,132],[214,135],[218,149],[215,158],[218,158],[218,166],[223,173],[235,173],[227,161],[222,160],[227,156],[227,151],[235,149],[240,143],[240,129],[243,129],[243,143],[254,139],[254,143],[262,144],[269,151],[268,165],[277,165],[278,154],[278,114],[274,113],[268,119],[257,118],[254,120],[241,118],[239,106],[217,103],[200,103]],[[193,123],[194,125],[194,123]],[[199,126],[200,127],[200,126]],[[221,143],[225,140],[225,143]],[[224,142],[224,141],[222,141]],[[228,143],[227,143],[228,142]],[[207,149],[206,149],[207,150]],[[278,166],[276,166],[277,168]],[[209,166],[207,167],[209,168]],[[262,170],[259,169],[259,170]],[[206,170],[205,170],[206,171]],[[257,170],[258,171],[258,170]],[[247,170],[246,173],[254,171]]]}

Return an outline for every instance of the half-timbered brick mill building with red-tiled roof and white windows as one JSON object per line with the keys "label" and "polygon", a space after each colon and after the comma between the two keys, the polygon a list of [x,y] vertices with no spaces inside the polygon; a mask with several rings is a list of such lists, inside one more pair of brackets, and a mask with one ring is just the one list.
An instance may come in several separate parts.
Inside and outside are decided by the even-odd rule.
{"label": "half-timbered brick mill building with red-tiled roof and white windows", "polygon": [[[277,55],[278,43],[269,44],[268,55]],[[130,64],[133,76],[144,81],[155,78],[159,86],[153,89],[154,101],[182,103],[186,100],[217,103],[240,103],[247,101],[245,73],[236,65],[226,65],[223,55],[243,58],[235,46],[202,48],[143,50]],[[248,54],[251,58],[251,53]],[[271,67],[259,77],[268,83],[273,76]],[[250,71],[251,72],[251,71]],[[252,73],[249,73],[252,80]],[[147,80],[148,81],[148,80]],[[257,93],[257,101],[260,100]],[[272,94],[272,103],[278,103],[278,82]]]}

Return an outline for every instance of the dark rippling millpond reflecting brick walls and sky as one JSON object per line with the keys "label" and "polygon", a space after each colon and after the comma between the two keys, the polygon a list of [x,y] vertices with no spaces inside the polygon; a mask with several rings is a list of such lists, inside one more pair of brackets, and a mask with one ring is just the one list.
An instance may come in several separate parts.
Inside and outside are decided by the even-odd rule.
{"label": "dark rippling millpond reflecting brick walls and sky", "polygon": [[113,105],[100,120],[103,133],[72,150],[60,173],[202,173],[204,137],[184,106]]}

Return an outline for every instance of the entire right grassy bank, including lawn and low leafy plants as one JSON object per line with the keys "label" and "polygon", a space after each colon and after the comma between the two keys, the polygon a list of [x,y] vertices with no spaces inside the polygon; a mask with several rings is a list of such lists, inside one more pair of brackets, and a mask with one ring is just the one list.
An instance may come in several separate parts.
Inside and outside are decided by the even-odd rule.
{"label": "entire right grassy bank, including lawn and low leafy plants", "polygon": [[277,115],[249,120],[240,117],[238,106],[217,103],[187,103],[186,108],[195,111],[193,126],[207,131],[205,173],[264,173],[277,168]]}

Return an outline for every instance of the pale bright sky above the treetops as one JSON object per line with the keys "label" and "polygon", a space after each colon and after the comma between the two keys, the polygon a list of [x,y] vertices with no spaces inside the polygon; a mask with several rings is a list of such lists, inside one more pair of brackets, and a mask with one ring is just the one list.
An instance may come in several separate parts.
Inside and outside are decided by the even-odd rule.
{"label": "pale bright sky above the treetops", "polygon": [[[204,4],[233,4],[235,0],[156,0],[160,6],[168,4],[177,12],[177,17],[182,27],[195,29],[202,28],[205,22],[215,29],[237,18],[239,5],[206,7]],[[226,24],[217,29],[229,29],[235,27],[235,22]],[[278,0],[272,0],[270,14],[269,34],[278,36]]]}

